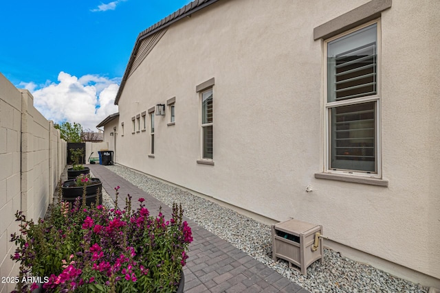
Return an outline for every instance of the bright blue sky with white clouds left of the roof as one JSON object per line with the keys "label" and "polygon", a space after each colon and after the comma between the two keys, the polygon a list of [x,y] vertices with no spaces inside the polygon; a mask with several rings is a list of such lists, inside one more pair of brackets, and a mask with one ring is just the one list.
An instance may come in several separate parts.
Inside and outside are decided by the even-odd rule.
{"label": "bright blue sky with white clouds left of the roof", "polygon": [[188,3],[2,1],[0,72],[30,90],[47,119],[96,130],[118,111],[113,99],[137,35]]}

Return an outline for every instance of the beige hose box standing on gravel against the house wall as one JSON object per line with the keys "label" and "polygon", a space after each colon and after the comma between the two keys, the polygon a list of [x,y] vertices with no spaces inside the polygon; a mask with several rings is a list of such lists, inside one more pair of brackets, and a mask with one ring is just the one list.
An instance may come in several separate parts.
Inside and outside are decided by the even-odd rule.
{"label": "beige hose box standing on gravel against the house wall", "polygon": [[289,268],[307,274],[311,263],[318,259],[322,262],[324,257],[321,234],[322,226],[294,219],[272,225],[272,259],[289,261]]}

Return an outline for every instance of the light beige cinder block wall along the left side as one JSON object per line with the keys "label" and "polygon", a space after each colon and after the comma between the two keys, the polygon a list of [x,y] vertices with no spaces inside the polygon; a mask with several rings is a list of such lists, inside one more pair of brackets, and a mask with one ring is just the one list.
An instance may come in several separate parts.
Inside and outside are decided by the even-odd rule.
{"label": "light beige cinder block wall along the left side", "polygon": [[[19,232],[15,212],[44,217],[66,157],[67,143],[34,108],[30,92],[0,73],[0,276],[19,274],[19,264],[10,259],[15,250],[10,235]],[[0,292],[13,289],[13,283],[0,283]]]}

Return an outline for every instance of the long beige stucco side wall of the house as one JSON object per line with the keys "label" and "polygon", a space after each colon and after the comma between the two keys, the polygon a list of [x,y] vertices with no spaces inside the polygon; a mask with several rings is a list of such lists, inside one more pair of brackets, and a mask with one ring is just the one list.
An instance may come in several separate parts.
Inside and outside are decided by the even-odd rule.
{"label": "long beige stucco side wall of the house", "polygon": [[[118,163],[268,219],[321,224],[329,246],[410,268],[438,287],[439,1],[393,1],[380,17],[388,186],[315,178],[325,168],[325,73],[314,27],[367,2],[224,0],[171,25],[124,85]],[[214,165],[202,165],[195,88],[210,78]],[[148,156],[149,120],[132,134],[131,118],[171,97],[175,124],[168,112],[155,116]]]}

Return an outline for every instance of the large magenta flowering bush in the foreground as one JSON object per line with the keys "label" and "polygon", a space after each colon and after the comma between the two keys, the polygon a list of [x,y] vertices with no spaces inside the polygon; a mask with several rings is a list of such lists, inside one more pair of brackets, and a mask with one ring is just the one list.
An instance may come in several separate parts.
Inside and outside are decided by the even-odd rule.
{"label": "large magenta flowering bush in the foreground", "polygon": [[[21,261],[19,278],[48,277],[46,292],[175,292],[191,228],[177,204],[165,220],[162,210],[152,216],[139,201],[135,211],[131,196],[122,211],[61,202],[38,224],[17,212],[21,235],[12,235],[18,248],[11,257]],[[16,292],[35,286],[19,283]]]}

